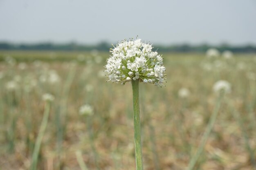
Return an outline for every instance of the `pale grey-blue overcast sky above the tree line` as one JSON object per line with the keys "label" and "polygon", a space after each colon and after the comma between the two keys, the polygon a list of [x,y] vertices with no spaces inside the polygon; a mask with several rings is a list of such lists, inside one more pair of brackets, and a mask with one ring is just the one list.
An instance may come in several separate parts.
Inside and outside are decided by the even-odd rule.
{"label": "pale grey-blue overcast sky above the tree line", "polygon": [[0,0],[0,41],[256,44],[256,0]]}

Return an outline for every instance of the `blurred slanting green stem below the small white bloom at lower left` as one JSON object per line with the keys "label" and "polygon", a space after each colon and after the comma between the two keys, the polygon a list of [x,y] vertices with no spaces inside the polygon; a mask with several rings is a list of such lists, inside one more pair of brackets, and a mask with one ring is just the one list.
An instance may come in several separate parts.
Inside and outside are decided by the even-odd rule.
{"label": "blurred slanting green stem below the small white bloom at lower left", "polygon": [[40,150],[40,146],[41,146],[41,143],[42,143],[42,140],[43,140],[43,136],[45,134],[45,129],[47,127],[49,113],[50,113],[50,102],[46,102],[45,111],[44,111],[44,114],[43,114],[43,120],[42,120],[42,123],[40,125],[38,136],[36,138],[35,148],[34,148],[33,155],[32,155],[32,164],[31,164],[31,167],[30,167],[31,170],[36,170],[39,150]]}

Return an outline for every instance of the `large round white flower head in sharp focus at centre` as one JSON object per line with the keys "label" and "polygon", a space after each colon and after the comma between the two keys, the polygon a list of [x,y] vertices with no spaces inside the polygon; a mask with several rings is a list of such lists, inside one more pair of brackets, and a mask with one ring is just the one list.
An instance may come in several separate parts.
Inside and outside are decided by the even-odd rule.
{"label": "large round white flower head in sharp focus at centre", "polygon": [[152,48],[151,44],[141,42],[141,39],[119,42],[114,49],[110,49],[112,56],[105,66],[108,81],[125,84],[139,79],[140,82],[162,87],[166,79],[163,58]]}

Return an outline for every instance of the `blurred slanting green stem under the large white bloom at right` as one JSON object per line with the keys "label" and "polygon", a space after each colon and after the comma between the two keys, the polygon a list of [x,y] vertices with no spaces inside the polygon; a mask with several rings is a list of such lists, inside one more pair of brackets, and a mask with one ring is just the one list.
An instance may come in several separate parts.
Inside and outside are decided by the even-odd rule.
{"label": "blurred slanting green stem under the large white bloom at right", "polygon": [[189,161],[189,166],[188,166],[187,170],[193,170],[193,168],[195,167],[195,163],[198,161],[198,158],[200,157],[202,151],[204,150],[204,146],[205,146],[205,144],[207,142],[207,139],[210,136],[211,130],[213,128],[213,125],[214,125],[214,123],[216,121],[218,112],[220,110],[220,104],[222,102],[223,95],[224,95],[224,93],[220,93],[220,96],[218,97],[217,104],[216,104],[216,106],[215,106],[215,108],[213,110],[213,114],[210,117],[210,120],[209,120],[209,123],[207,125],[207,128],[206,128],[206,130],[204,132],[204,135],[203,135],[203,137],[202,137],[202,139],[200,141],[198,150],[196,151],[196,153],[192,157],[192,159]]}

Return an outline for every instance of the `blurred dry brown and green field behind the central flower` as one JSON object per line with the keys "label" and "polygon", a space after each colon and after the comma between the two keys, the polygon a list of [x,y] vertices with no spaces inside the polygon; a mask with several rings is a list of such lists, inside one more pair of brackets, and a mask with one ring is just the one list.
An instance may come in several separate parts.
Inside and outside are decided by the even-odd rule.
{"label": "blurred dry brown and green field behind the central flower", "polygon": [[[135,169],[132,87],[106,82],[110,53],[0,51],[0,170],[27,170],[50,93],[38,170]],[[166,87],[140,83],[145,170],[185,170],[214,110],[194,170],[256,167],[256,55],[163,53]],[[231,92],[219,101],[213,84]],[[181,88],[189,93],[179,95]],[[220,102],[220,109],[218,109]],[[79,109],[88,104],[91,114]]]}

